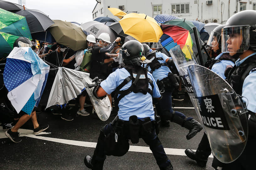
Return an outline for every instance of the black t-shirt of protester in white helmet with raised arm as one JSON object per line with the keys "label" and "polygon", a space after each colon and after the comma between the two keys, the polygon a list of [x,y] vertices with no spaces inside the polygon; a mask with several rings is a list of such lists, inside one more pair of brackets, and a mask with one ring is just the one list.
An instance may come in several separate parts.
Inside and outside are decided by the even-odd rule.
{"label": "black t-shirt of protester in white helmet with raised arm", "polygon": [[92,58],[91,58],[91,71],[90,78],[98,77],[100,79],[106,79],[108,77],[108,63],[104,64],[106,59],[105,53],[99,53],[102,47],[93,47]]}

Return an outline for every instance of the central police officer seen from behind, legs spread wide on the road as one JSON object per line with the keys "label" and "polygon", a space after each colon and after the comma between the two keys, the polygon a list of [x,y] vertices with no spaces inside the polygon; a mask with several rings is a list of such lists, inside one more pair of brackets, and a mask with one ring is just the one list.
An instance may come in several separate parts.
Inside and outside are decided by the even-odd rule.
{"label": "central police officer seen from behind, legs spread wide on the road", "polygon": [[122,46],[125,68],[117,69],[98,88],[93,90],[96,98],[106,94],[120,94],[117,102],[118,120],[105,125],[99,134],[93,156],[87,155],[84,163],[91,169],[103,169],[106,155],[122,156],[129,150],[127,139],[138,143],[142,138],[150,149],[161,170],[172,170],[170,160],[156,135],[152,98],[159,99],[161,94],[153,77],[147,69],[141,67],[146,63],[144,48],[138,41],[131,40]]}

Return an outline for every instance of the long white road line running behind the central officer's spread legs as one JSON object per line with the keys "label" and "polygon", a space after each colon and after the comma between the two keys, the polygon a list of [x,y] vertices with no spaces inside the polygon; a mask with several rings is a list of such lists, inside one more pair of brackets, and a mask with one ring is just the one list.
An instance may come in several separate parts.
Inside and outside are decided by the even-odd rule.
{"label": "long white road line running behind the central officer's spread legs", "polygon": [[[75,141],[75,140],[68,140],[68,139],[49,138],[49,137],[35,136],[35,135],[27,135],[27,137],[51,141],[51,142],[57,142],[57,143],[64,143],[68,145],[88,147],[88,148],[96,148],[96,144],[97,144],[95,142],[84,142],[84,141]],[[130,145],[129,151],[141,152],[141,153],[152,153],[149,147],[134,146],[134,145]],[[186,154],[184,153],[185,149],[164,148],[164,151],[167,155],[186,156]],[[212,154],[209,156],[209,158],[213,158]]]}

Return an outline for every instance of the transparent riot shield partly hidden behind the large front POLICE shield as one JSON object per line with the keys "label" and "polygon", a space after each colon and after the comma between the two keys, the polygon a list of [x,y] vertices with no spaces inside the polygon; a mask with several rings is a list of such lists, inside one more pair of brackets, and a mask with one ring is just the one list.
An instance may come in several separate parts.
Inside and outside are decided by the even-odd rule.
{"label": "transparent riot shield partly hidden behind the large front POLICE shield", "polygon": [[195,54],[193,53],[192,49],[188,45],[177,45],[173,47],[170,51],[170,54],[172,56],[172,59],[175,63],[175,66],[179,72],[180,77],[182,78],[183,84],[189,94],[189,98],[195,107],[195,111],[199,117],[199,121],[202,124],[203,121],[200,116],[200,112],[195,100],[195,95],[193,88],[191,86],[191,81],[189,78],[189,73],[188,73],[188,66],[189,65],[194,65],[198,64]]}

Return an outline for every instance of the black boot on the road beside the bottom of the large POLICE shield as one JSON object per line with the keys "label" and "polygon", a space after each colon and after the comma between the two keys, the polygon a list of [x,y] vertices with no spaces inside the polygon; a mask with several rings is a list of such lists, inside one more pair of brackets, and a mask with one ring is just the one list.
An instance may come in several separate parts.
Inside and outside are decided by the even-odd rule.
{"label": "black boot on the road beside the bottom of the large POLICE shield", "polygon": [[206,163],[209,157],[208,152],[196,150],[196,152],[191,149],[186,149],[185,154],[190,158],[197,162],[197,164],[201,167],[206,167]]}

